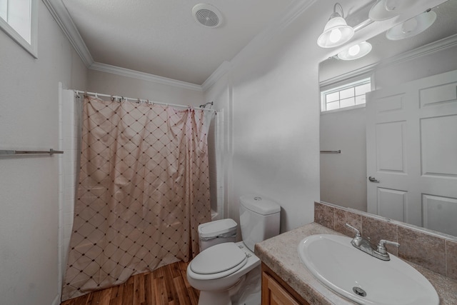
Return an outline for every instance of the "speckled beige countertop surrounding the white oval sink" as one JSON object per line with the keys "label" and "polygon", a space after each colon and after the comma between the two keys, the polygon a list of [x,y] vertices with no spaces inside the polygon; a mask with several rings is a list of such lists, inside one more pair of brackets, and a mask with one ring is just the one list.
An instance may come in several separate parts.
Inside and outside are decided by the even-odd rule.
{"label": "speckled beige countertop surrounding the white oval sink", "polygon": [[[326,288],[301,262],[297,251],[298,243],[306,236],[313,234],[342,235],[320,224],[306,224],[256,244],[255,253],[264,264],[276,272],[310,304],[355,304]],[[422,266],[410,262],[408,264],[411,264],[431,282],[438,292],[441,305],[457,304],[456,280],[436,274]]]}

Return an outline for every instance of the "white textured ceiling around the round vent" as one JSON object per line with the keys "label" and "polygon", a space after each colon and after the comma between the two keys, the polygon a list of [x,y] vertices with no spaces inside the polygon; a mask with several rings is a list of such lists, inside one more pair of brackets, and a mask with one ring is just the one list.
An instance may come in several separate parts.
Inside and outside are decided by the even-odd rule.
{"label": "white textured ceiling around the round vent", "polygon": [[193,0],[63,0],[94,61],[203,84],[292,0],[206,0],[224,18],[198,24]]}

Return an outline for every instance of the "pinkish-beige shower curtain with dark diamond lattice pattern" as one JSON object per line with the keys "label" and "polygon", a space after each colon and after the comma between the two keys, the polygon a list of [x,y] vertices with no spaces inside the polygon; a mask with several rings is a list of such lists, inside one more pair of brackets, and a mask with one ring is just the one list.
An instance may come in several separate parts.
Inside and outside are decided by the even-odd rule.
{"label": "pinkish-beige shower curtain with dark diamond lattice pattern", "polygon": [[63,301],[198,254],[212,115],[85,97]]}

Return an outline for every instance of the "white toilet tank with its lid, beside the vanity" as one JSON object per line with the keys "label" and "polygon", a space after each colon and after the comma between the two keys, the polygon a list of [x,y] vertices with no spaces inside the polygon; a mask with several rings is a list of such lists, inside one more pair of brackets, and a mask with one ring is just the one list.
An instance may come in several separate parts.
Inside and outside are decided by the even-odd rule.
{"label": "white toilet tank with its lid, beside the vanity", "polygon": [[255,195],[240,197],[240,225],[243,243],[254,251],[254,245],[279,234],[281,206]]}

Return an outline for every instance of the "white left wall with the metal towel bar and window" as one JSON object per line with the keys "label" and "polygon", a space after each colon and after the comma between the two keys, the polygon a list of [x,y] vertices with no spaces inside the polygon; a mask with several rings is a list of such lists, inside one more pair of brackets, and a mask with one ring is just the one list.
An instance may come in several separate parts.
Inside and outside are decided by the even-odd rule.
{"label": "white left wall with the metal towel bar and window", "polygon": [[[38,59],[0,31],[0,149],[59,147],[58,84],[86,67],[39,1]],[[59,304],[59,157],[0,158],[1,304]]]}

